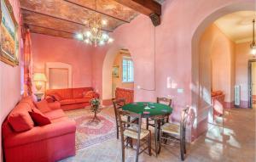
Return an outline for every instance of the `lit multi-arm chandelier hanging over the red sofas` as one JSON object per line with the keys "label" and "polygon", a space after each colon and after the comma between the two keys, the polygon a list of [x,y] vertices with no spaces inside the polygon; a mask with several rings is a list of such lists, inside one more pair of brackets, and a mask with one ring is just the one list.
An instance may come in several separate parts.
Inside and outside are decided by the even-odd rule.
{"label": "lit multi-arm chandelier hanging over the red sofas", "polygon": [[[96,5],[96,1],[95,1]],[[96,10],[97,8],[95,8]],[[107,32],[102,31],[102,27],[108,25],[107,20],[102,20],[102,16],[96,12],[86,20],[88,31],[84,33],[78,33],[76,35],[77,39],[83,41],[87,44],[94,45],[95,47],[104,45],[106,43],[113,42],[113,38],[108,36]]]}

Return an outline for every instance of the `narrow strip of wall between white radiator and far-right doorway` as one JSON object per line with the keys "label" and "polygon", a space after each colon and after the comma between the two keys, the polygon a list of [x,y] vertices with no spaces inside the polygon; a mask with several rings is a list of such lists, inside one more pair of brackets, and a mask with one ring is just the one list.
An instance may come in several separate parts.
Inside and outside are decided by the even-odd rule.
{"label": "narrow strip of wall between white radiator and far-right doorway", "polygon": [[241,86],[241,107],[247,108],[248,98],[248,60],[255,59],[250,53],[250,42],[236,44],[236,85]]}

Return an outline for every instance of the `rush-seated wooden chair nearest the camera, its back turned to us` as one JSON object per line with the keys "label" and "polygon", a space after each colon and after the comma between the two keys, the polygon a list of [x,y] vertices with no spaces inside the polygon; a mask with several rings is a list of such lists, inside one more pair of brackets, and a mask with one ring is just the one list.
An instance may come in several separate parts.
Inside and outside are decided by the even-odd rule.
{"label": "rush-seated wooden chair nearest the camera, its back turned to us", "polygon": [[[148,154],[151,156],[151,131],[142,128],[142,115],[131,113],[129,111],[123,111],[121,109],[117,109],[116,112],[119,118],[121,133],[122,161],[125,162],[125,148],[128,147],[128,143],[132,142],[132,139],[137,140],[136,162],[138,161],[138,155],[143,153],[143,151],[146,149],[148,149]],[[122,120],[124,119],[122,116],[137,119],[138,122],[134,123],[127,120]],[[145,145],[146,143],[148,143],[148,146],[140,151],[141,146]]]}

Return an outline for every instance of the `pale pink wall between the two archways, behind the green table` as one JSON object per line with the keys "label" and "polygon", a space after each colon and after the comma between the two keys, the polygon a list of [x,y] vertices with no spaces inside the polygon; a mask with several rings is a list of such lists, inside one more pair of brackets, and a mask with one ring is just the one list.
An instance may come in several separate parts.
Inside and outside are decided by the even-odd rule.
{"label": "pale pink wall between the two archways, behind the green table", "polygon": [[[96,49],[93,56],[93,85],[102,92],[102,63],[106,53],[111,47],[125,47],[131,52],[135,66],[135,87],[138,85],[155,91],[143,91],[135,89],[136,101],[154,101],[156,96],[171,95],[174,101],[174,118],[179,118],[181,108],[186,104],[192,104],[192,98],[200,96],[197,87],[198,79],[195,76],[195,85],[192,83],[192,74],[198,69],[191,69],[192,61],[199,64],[198,58],[192,57],[192,39],[197,28],[205,20],[211,23],[214,20],[207,19],[209,15],[217,12],[218,9],[234,4],[234,8],[225,8],[225,12],[217,12],[211,18],[218,18],[223,14],[236,11],[240,3],[248,4],[253,8],[254,0],[172,0],[165,1],[162,7],[161,25],[154,29],[151,20],[144,15],[139,15],[130,24],[119,26],[113,32],[115,41],[112,46]],[[246,7],[245,7],[246,8]],[[215,20],[216,20],[215,19]],[[205,28],[206,26],[201,26]],[[154,30],[155,30],[155,81],[154,82]],[[200,36],[200,34],[198,35]],[[193,58],[193,59],[192,59]],[[166,88],[166,78],[170,76],[172,81],[177,82],[177,87],[183,89],[178,93],[177,89]],[[197,77],[198,78],[198,77]],[[155,87],[154,87],[155,84]],[[192,95],[190,88],[195,89]],[[194,91],[194,90],[193,90]],[[210,91],[210,89],[208,90]],[[201,97],[200,97],[201,98]],[[194,99],[193,101],[198,101]],[[196,106],[196,104],[195,104]],[[199,123],[205,122],[208,109],[195,107],[197,119],[193,129],[197,129]],[[195,138],[196,133],[192,135]]]}

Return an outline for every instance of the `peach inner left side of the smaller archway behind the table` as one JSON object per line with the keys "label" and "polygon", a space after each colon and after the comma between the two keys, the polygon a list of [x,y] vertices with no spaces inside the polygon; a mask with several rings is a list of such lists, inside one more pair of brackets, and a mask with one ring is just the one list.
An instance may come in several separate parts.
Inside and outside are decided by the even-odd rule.
{"label": "peach inner left side of the smaller archway behind the table", "polygon": [[[110,105],[113,98],[113,62],[125,47],[114,45],[106,53],[102,65],[102,104]],[[130,52],[130,51],[129,51]],[[119,75],[119,78],[122,76]]]}

